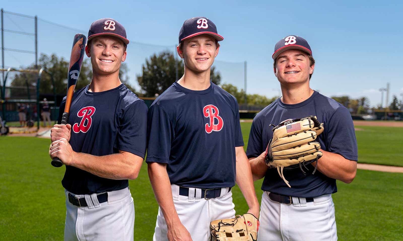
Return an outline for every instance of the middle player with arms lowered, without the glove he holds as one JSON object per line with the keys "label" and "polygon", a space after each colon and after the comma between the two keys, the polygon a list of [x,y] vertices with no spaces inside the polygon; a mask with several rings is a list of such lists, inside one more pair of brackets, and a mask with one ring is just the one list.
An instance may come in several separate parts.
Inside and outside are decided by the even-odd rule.
{"label": "middle player with arms lowered, without the glove he holds", "polygon": [[160,206],[154,241],[209,240],[211,221],[235,215],[235,182],[258,217],[237,100],[210,82],[222,40],[208,18],[186,20],[177,47],[185,74],[149,109],[146,161]]}

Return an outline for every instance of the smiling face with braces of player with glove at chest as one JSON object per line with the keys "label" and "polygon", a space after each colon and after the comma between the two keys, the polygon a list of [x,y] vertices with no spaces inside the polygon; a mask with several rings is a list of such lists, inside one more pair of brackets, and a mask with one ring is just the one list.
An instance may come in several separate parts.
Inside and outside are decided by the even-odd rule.
{"label": "smiling face with braces of player with glove at chest", "polygon": [[310,59],[304,51],[290,49],[276,58],[274,75],[281,84],[304,83],[310,79],[315,64],[310,66]]}

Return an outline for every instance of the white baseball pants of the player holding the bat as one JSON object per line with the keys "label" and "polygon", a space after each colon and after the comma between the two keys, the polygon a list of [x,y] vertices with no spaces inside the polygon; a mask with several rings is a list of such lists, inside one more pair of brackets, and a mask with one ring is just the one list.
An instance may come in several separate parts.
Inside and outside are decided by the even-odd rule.
{"label": "white baseball pants of the player holding the bat", "polygon": [[85,197],[87,207],[71,204],[69,191],[65,194],[65,241],[133,241],[134,203],[129,188],[108,192],[108,201],[103,203],[98,202],[96,194],[73,194]]}

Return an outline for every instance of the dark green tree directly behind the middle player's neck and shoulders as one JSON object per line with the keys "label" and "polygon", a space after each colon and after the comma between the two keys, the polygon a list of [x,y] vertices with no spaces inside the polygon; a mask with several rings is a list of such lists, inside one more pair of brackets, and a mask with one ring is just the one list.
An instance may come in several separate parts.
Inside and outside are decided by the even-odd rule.
{"label": "dark green tree directly behind the middle player's neck and shoulders", "polygon": [[[176,80],[176,68],[178,67],[178,78],[183,76],[185,68],[183,61],[176,61],[174,54],[169,51],[154,54],[149,59],[145,59],[142,65],[142,74],[137,76],[141,90],[147,97],[160,95]],[[220,84],[221,76],[211,67],[210,80],[214,84]]]}

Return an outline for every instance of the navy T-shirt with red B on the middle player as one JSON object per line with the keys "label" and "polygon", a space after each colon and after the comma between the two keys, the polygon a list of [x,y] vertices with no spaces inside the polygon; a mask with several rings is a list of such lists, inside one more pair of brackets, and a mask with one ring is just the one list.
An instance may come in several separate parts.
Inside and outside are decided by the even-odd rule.
{"label": "navy T-shirt with red B on the middle player", "polygon": [[235,185],[235,147],[243,146],[237,100],[210,82],[189,90],[177,82],[148,110],[146,162],[166,163],[171,184]]}

